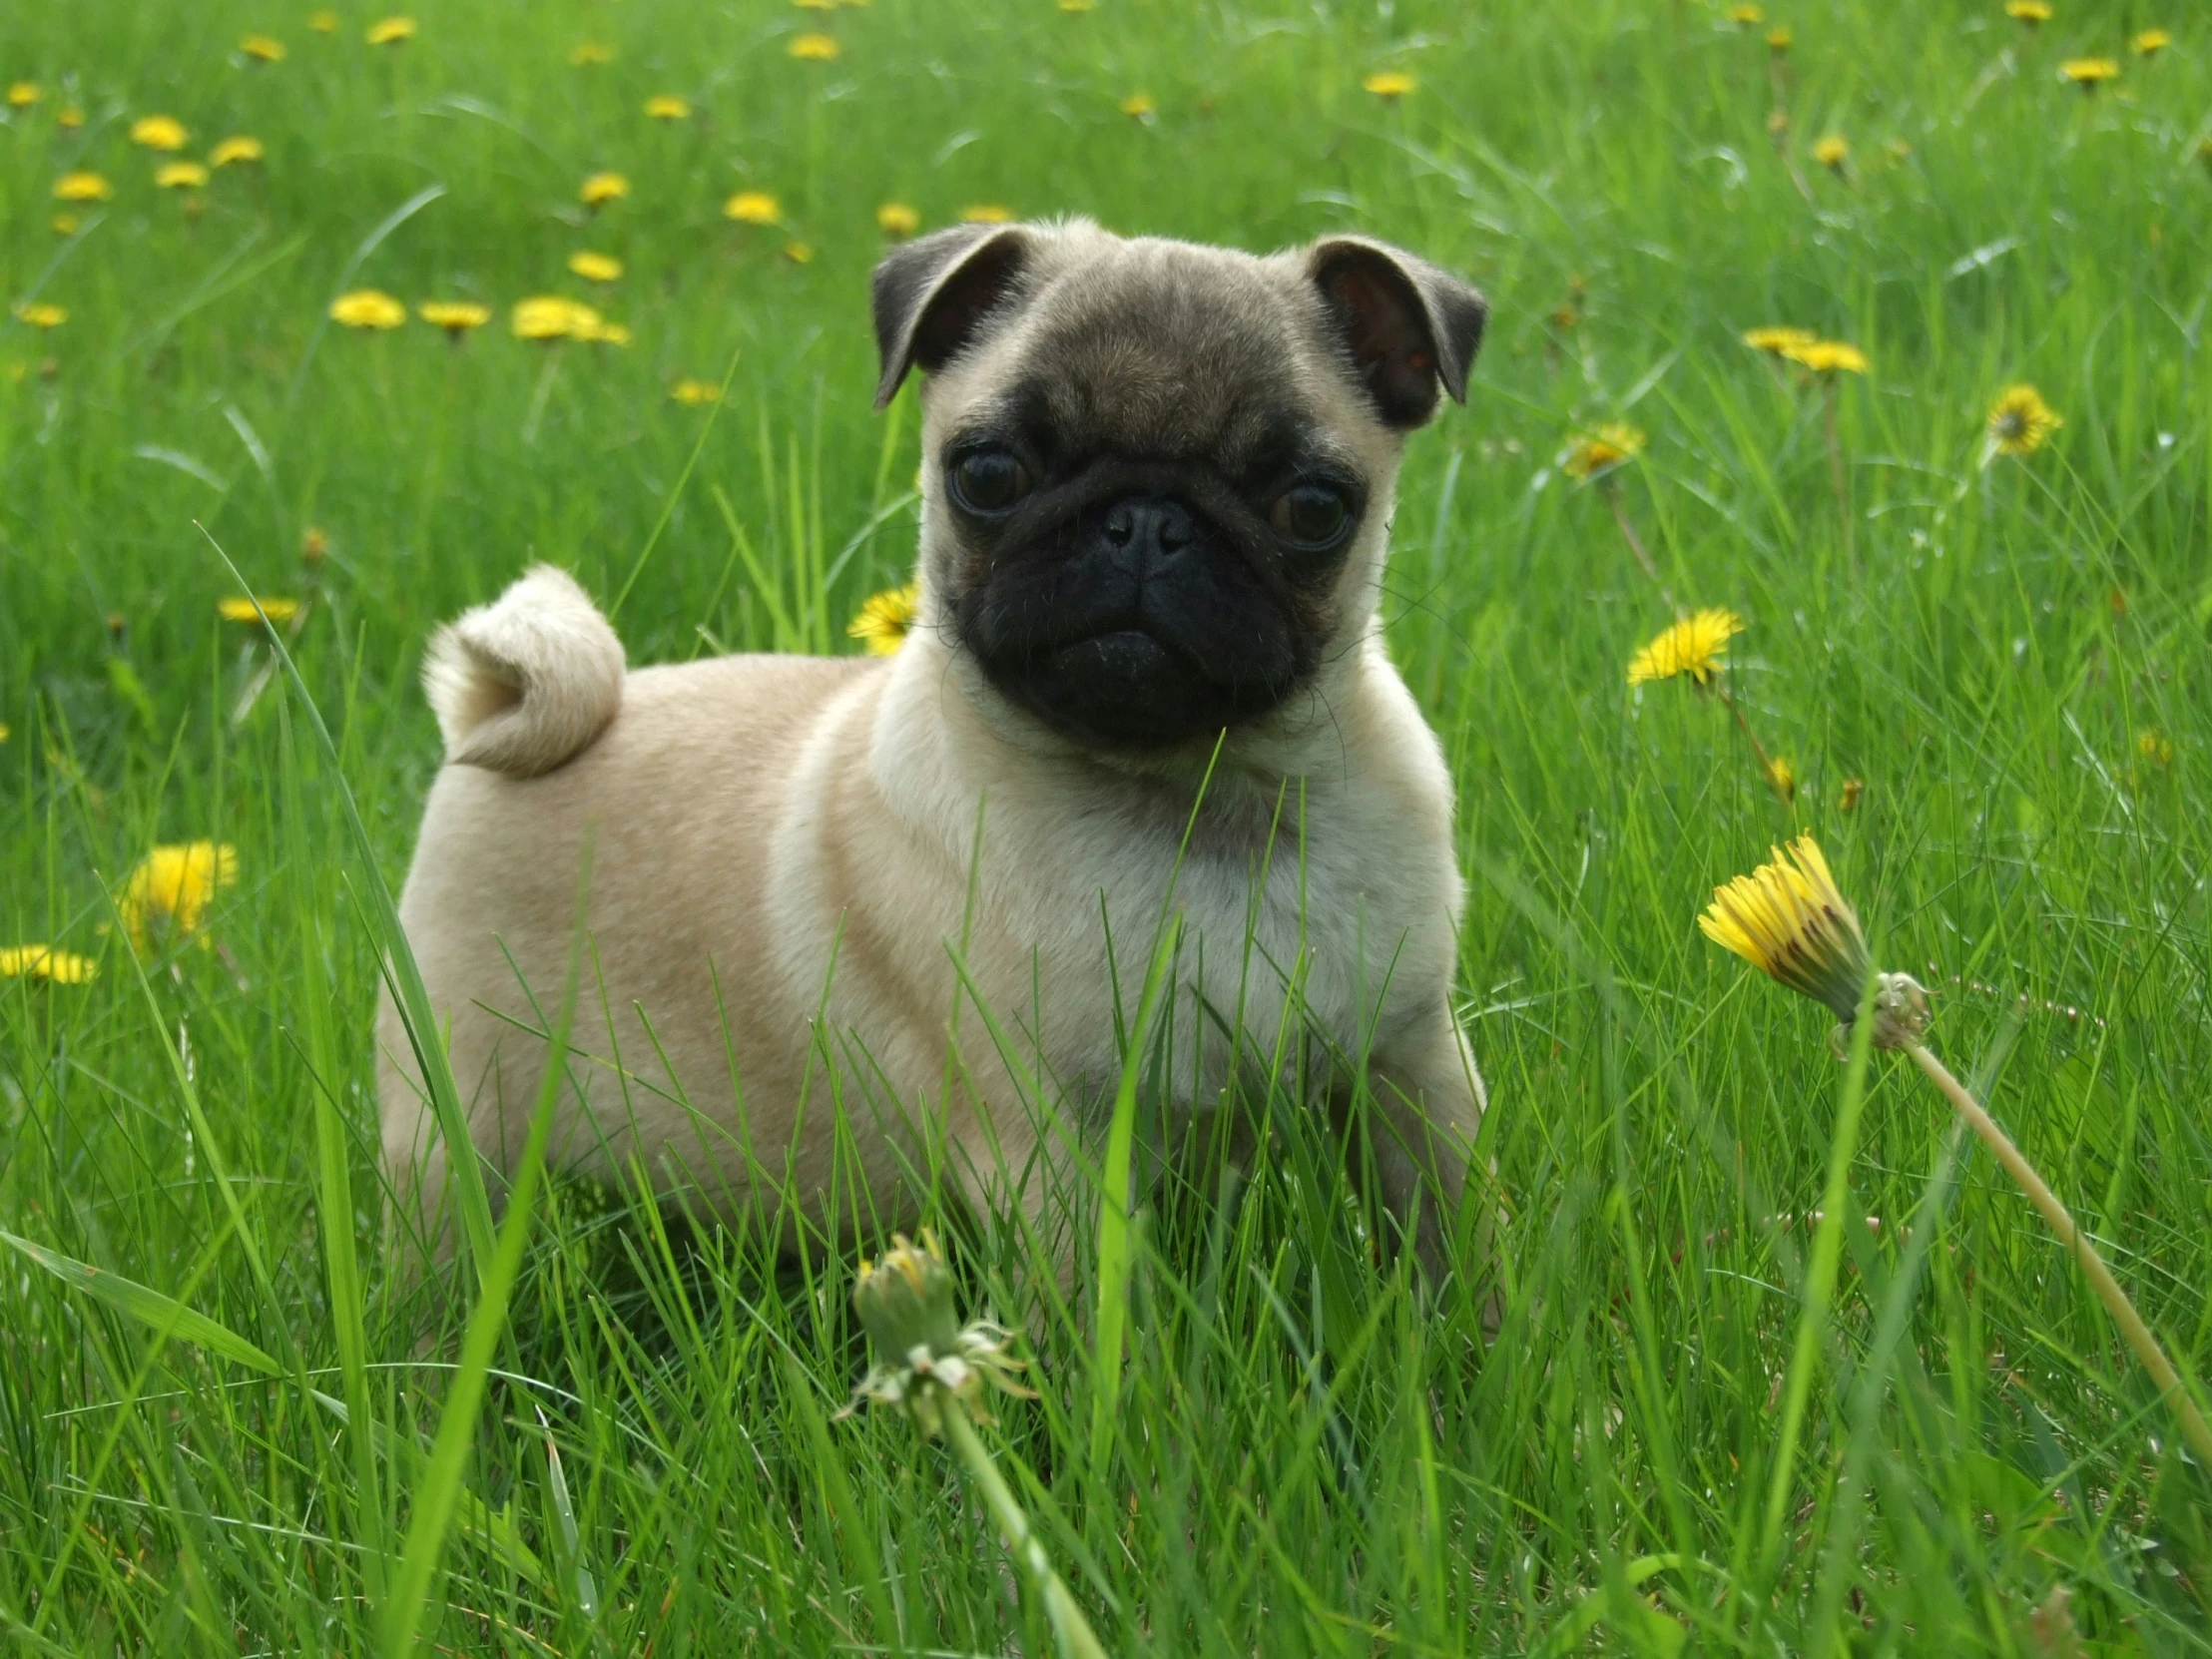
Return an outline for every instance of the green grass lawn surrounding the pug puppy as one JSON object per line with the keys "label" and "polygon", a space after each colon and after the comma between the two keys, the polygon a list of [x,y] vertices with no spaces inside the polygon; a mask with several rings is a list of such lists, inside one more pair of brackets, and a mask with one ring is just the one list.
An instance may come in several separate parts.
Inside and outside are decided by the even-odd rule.
{"label": "green grass lawn surrounding the pug puppy", "polygon": [[[1108,1648],[2059,1655],[2031,1617],[2059,1590],[2088,1650],[2212,1648],[2212,1471],[2028,1206],[1880,1057],[1770,1524],[1847,1073],[1825,1015],[1694,931],[1717,880],[1816,830],[1882,960],[1942,991],[1938,1051],[2183,1371],[2212,1365],[2212,33],[2090,0],[2035,35],[1997,0],[1772,13],[1778,82],[1756,31],[1688,0],[874,0],[830,18],[832,64],[785,55],[821,24],[770,0],[431,0],[400,51],[352,0],[327,38],[303,4],[9,7],[0,82],[46,95],[0,126],[0,290],[69,321],[0,321],[0,942],[100,978],[0,982],[0,1228],[46,1252],[0,1252],[4,1639],[1048,1650],[947,1453],[825,1422],[865,1365],[849,1254],[779,1265],[757,1232],[553,1186],[445,1440],[480,1281],[418,1360],[425,1303],[383,1270],[372,883],[403,874],[438,761],[420,641],[531,560],[613,599],[650,546],[633,661],[845,648],[911,555],[911,392],[869,414],[863,299],[902,199],[1250,248],[1356,226],[1495,307],[1469,409],[1409,453],[1389,626],[1462,792],[1502,1323],[1475,1283],[1422,1298],[1327,1133],[1254,1102],[1276,1141],[1237,1201],[1168,1181],[1128,1237],[1113,1409],[1084,1274],[1029,1332],[1040,1400],[987,1431]],[[2139,62],[2152,22],[2179,40]],[[243,66],[248,31],[285,62]],[[615,60],[571,66],[586,38]],[[2121,82],[2064,86],[2079,53]],[[1418,91],[1363,93],[1383,66]],[[659,91],[695,119],[648,122]],[[1117,111],[1133,91],[1157,119]],[[268,159],[192,215],[126,142],[148,111]],[[1843,177],[1809,159],[1823,133],[1854,146]],[[117,190],[62,237],[75,166]],[[635,190],[586,223],[597,168]],[[787,226],[726,221],[739,188]],[[515,299],[582,292],[577,248],[626,261],[602,303],[633,343],[509,338]],[[460,347],[349,334],[323,314],[352,285],[500,319]],[[1871,356],[1838,405],[1849,551],[1818,396],[1736,341],[1761,323]],[[708,411],[666,387],[732,354],[699,449]],[[1984,471],[2015,380],[2066,427]],[[1619,500],[1668,588],[1750,624],[1730,679],[1794,812],[1710,699],[1624,686],[1668,611],[1555,465],[1615,418],[1650,434]],[[234,584],[195,520],[259,591],[312,595],[292,648],[334,759],[281,677],[239,712],[268,659],[217,622]],[[108,894],[201,836],[241,865],[215,949],[142,978]],[[1013,1310],[1037,1241],[933,1217],[969,1305]]]}

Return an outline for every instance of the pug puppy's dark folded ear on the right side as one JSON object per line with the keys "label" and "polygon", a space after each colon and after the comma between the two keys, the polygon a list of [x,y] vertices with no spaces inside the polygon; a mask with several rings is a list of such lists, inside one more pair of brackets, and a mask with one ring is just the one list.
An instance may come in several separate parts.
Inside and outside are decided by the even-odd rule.
{"label": "pug puppy's dark folded ear on the right side", "polygon": [[1316,241],[1305,268],[1387,425],[1422,425],[1436,414],[1438,385],[1467,403],[1467,369],[1491,312],[1482,294],[1367,237]]}

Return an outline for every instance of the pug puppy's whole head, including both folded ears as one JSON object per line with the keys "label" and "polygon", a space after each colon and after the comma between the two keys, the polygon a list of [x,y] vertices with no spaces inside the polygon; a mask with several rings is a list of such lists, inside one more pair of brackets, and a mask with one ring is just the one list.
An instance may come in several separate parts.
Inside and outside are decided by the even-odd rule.
{"label": "pug puppy's whole head, including both folded ears", "polygon": [[1473,290],[1380,243],[1252,259],[960,228],[876,270],[878,403],[931,387],[933,622],[1097,750],[1263,719],[1365,628],[1400,438],[1464,394]]}

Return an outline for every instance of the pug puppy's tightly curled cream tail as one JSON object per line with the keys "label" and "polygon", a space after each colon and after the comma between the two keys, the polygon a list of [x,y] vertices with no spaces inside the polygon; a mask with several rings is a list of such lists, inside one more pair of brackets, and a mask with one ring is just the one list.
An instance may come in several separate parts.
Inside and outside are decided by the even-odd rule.
{"label": "pug puppy's tightly curled cream tail", "polygon": [[615,630],[551,564],[453,617],[422,659],[445,759],[515,779],[551,772],[604,732],[622,675]]}

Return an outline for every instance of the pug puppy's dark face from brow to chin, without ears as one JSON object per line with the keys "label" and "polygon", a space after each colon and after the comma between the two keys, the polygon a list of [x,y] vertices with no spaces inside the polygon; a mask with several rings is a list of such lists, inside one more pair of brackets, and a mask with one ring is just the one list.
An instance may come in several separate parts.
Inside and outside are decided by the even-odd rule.
{"label": "pug puppy's dark face from brow to chin, without ears", "polygon": [[1190,365],[1130,403],[1126,378],[1102,398],[1053,356],[940,449],[960,644],[1006,699],[1099,748],[1172,748],[1276,708],[1327,648],[1367,482],[1287,385],[1206,385]]}

